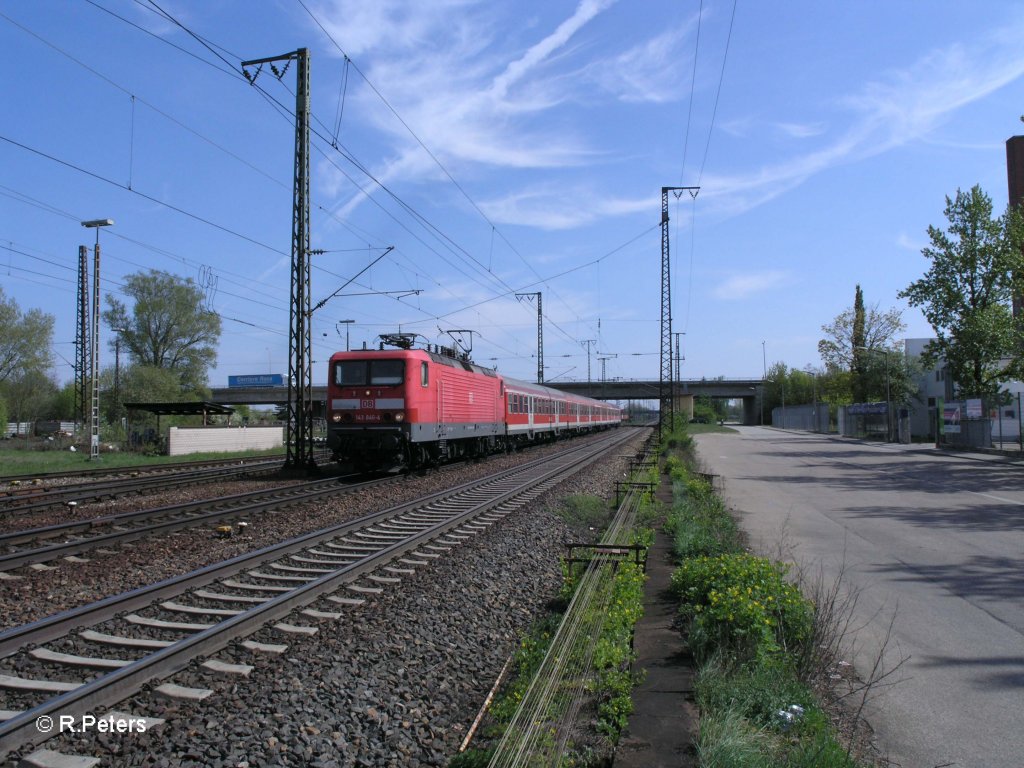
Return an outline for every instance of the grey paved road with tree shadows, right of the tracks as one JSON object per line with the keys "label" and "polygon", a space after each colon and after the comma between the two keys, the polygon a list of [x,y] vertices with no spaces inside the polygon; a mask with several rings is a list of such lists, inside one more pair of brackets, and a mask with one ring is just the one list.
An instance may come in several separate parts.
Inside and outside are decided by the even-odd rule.
{"label": "grey paved road with tree shadows, right of the tracks", "polygon": [[697,446],[757,549],[845,562],[861,643],[895,613],[909,660],[870,712],[895,763],[1024,766],[1024,464],[760,427]]}

